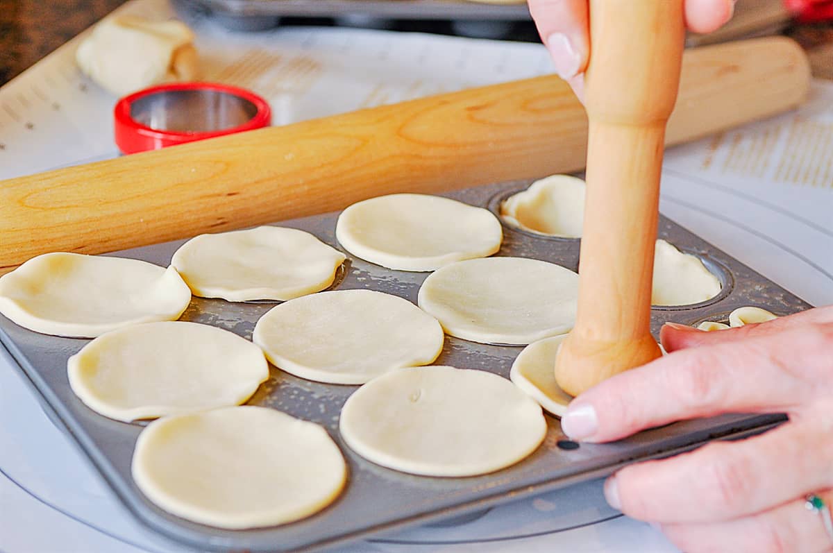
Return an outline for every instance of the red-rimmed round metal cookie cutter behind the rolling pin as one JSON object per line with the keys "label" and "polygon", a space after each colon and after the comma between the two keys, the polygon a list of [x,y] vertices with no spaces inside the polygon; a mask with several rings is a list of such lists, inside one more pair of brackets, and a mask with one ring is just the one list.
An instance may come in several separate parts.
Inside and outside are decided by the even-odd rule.
{"label": "red-rimmed round metal cookie cutter behind the rolling pin", "polygon": [[245,88],[172,82],[123,97],[113,116],[116,145],[128,154],[267,127],[272,110]]}

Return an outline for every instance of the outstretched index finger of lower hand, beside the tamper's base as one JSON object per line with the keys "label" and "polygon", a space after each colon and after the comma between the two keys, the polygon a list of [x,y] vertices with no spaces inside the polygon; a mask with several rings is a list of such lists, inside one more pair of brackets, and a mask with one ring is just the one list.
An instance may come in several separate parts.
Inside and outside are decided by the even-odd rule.
{"label": "outstretched index finger of lower hand, beside the tamper's base", "polygon": [[[721,331],[718,331],[721,332]],[[833,393],[833,326],[675,351],[576,397],[561,429],[612,441],[652,426],[727,412],[796,412]]]}

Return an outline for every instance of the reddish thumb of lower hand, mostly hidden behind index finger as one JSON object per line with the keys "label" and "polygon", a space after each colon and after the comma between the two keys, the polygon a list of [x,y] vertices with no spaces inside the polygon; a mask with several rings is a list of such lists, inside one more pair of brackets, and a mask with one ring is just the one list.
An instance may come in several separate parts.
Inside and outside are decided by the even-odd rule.
{"label": "reddish thumb of lower hand, mostly hidden behind index finger", "polygon": [[833,306],[816,307],[793,315],[782,316],[772,321],[721,331],[699,331],[691,326],[666,323],[661,328],[660,341],[666,351],[671,353],[671,351],[685,349],[686,347],[739,341],[751,336],[769,336],[788,328],[812,323],[833,323]]}

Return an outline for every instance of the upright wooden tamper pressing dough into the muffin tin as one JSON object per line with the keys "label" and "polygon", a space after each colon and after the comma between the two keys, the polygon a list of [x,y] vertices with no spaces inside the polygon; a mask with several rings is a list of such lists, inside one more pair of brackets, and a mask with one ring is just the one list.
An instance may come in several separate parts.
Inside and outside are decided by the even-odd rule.
{"label": "upright wooden tamper pressing dough into the muffin tin", "polygon": [[590,0],[590,13],[578,314],[555,367],[572,396],[661,356],[651,336],[651,278],[686,36],[683,0]]}

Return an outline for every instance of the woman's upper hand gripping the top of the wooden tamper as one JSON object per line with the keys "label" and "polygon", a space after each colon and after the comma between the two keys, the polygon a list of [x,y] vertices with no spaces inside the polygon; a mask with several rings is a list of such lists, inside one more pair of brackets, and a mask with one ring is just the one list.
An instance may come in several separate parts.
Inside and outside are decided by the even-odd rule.
{"label": "woman's upper hand gripping the top of the wooden tamper", "polygon": [[[550,51],[556,72],[570,83],[579,98],[590,54],[588,0],[528,0],[529,11]],[[686,26],[712,32],[729,21],[735,0],[686,0]]]}

